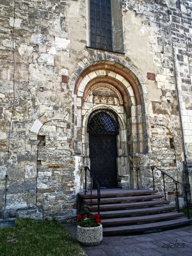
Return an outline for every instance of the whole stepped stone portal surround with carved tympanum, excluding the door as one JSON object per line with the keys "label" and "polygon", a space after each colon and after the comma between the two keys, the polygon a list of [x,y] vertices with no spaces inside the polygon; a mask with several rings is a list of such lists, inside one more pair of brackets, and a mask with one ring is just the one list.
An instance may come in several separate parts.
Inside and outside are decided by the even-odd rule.
{"label": "whole stepped stone portal surround with carved tympanum, excluding the door", "polygon": [[[74,141],[84,165],[90,166],[88,118],[95,109],[112,109],[119,120],[117,135],[118,186],[130,188],[132,153],[147,152],[147,136],[143,91],[131,70],[112,61],[88,65],[74,86]],[[77,134],[77,136],[76,136]]]}

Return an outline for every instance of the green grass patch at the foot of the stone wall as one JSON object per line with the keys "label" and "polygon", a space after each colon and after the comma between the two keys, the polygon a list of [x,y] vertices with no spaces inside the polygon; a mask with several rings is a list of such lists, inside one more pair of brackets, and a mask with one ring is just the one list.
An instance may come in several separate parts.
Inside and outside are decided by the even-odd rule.
{"label": "green grass patch at the foot of the stone wall", "polygon": [[1,256],[85,256],[79,243],[56,221],[17,219],[0,229]]}

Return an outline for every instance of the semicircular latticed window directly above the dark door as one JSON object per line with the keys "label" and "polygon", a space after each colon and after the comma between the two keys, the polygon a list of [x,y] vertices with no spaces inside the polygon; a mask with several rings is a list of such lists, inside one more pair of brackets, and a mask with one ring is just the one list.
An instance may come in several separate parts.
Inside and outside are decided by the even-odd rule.
{"label": "semicircular latticed window directly above the dark door", "polygon": [[112,111],[99,109],[88,118],[88,132],[94,134],[118,134],[118,119]]}

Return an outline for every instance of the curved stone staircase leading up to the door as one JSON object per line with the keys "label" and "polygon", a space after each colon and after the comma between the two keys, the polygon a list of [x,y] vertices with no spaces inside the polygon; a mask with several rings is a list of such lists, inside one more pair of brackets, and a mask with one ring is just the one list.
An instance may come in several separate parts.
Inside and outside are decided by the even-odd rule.
{"label": "curved stone staircase leading up to the door", "polygon": [[[90,192],[79,193],[79,199],[84,211],[92,214],[98,211],[97,190],[92,191],[92,205]],[[152,189],[100,190],[100,218],[105,236],[152,232],[192,223]]]}

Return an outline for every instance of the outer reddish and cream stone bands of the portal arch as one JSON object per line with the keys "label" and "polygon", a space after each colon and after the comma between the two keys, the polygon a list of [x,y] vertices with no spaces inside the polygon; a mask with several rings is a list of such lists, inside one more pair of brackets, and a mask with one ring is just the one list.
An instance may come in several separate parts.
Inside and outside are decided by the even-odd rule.
{"label": "outer reddish and cream stone bands of the portal arch", "polygon": [[[145,104],[143,91],[136,76],[119,63],[103,61],[93,63],[84,68],[77,77],[74,87],[74,106],[83,109],[83,101],[87,92],[97,83],[113,85],[124,101],[125,111],[130,120],[131,132],[129,135],[130,152],[147,152],[147,124],[145,121]],[[80,111],[80,109],[79,109]],[[76,115],[76,111],[74,111]],[[76,117],[76,116],[75,116]],[[78,117],[80,119],[80,116]],[[132,145],[131,145],[132,144]]]}

